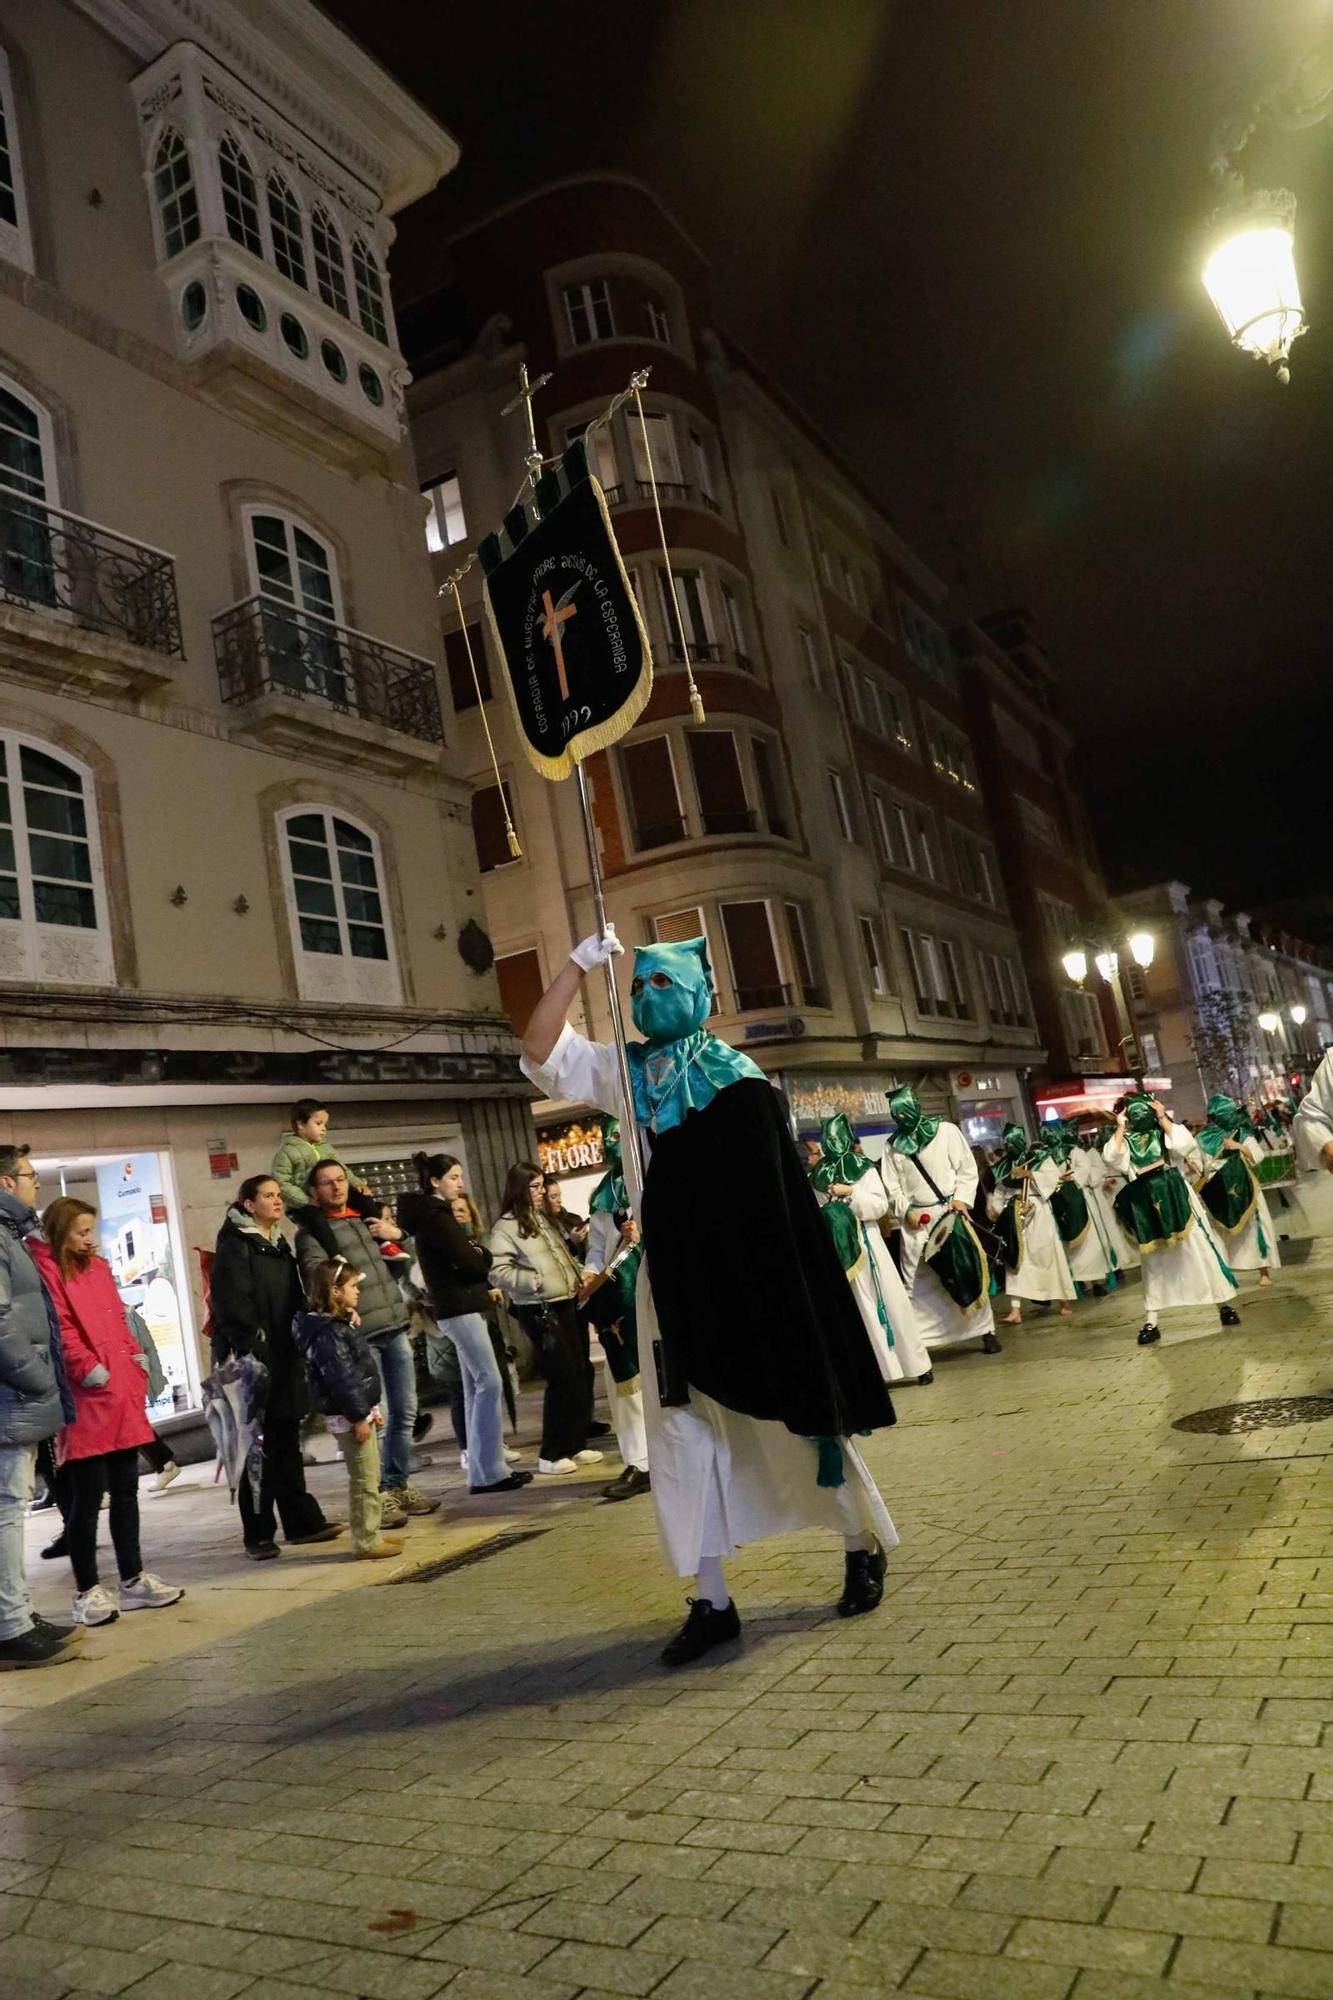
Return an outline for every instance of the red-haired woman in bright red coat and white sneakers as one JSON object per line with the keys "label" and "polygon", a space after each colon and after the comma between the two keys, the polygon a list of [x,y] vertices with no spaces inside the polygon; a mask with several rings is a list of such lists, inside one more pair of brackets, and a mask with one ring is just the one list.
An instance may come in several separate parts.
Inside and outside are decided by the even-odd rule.
{"label": "red-haired woman in bright red coat and white sneakers", "polygon": [[[70,1482],[66,1536],[76,1624],[110,1624],[120,1612],[160,1610],[184,1590],[152,1576],[138,1554],[138,1448],[152,1444],[144,1410],[148,1358],[130,1332],[112,1268],[94,1246],[96,1208],[62,1194],[42,1216],[46,1242],[32,1256],[60,1316],[60,1344],[74,1394],[74,1422],[56,1438]],[[98,1512],[110,1494],[120,1590],[98,1580]]]}

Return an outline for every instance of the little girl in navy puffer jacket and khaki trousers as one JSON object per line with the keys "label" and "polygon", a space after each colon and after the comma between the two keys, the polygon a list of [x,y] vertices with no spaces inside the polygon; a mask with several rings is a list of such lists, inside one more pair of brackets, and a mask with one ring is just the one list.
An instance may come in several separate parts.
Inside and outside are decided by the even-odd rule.
{"label": "little girl in navy puffer jacket and khaki trousers", "polygon": [[360,1332],[356,1296],[364,1272],[344,1256],[316,1264],[306,1284],[310,1310],[292,1322],[292,1340],[304,1356],[314,1396],[328,1416],[346,1466],[354,1556],[400,1556],[402,1542],[380,1534],[380,1372],[370,1342]]}

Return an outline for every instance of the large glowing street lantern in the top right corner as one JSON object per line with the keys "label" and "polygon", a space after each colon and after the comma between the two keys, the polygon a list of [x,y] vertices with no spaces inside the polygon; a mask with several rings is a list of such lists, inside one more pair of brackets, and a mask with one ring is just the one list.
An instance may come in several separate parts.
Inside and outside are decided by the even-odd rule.
{"label": "large glowing street lantern in the top right corner", "polygon": [[1263,126],[1303,132],[1331,114],[1333,62],[1329,50],[1315,48],[1251,112],[1227,118],[1213,140],[1209,164],[1223,204],[1213,216],[1203,288],[1233,346],[1269,362],[1279,382],[1291,380],[1287,356],[1307,324],[1295,268],[1295,194],[1247,192],[1237,160]]}

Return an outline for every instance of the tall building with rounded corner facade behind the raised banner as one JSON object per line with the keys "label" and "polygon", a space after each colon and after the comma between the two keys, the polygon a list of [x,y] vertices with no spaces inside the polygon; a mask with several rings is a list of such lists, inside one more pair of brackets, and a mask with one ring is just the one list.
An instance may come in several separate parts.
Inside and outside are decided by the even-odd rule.
{"label": "tall building with rounded corner facade behind the raised banner", "polygon": [[[803,1130],[845,1108],[883,1132],[899,1080],[977,1140],[1023,1116],[1041,1034],[945,586],[717,326],[687,232],[620,176],[542,188],[444,248],[426,202],[402,220],[396,286],[440,582],[518,492],[522,418],[502,408],[520,362],[552,376],[536,402],[546,454],[650,368],[648,444],[632,406],[590,438],[656,662],[632,736],[588,766],[620,938],[709,940],[717,1030],[781,1080]],[[460,590],[482,680],[478,700],[446,608],[450,706],[500,992],[520,1026],[592,924],[584,844],[574,788],[518,754],[474,570]],[[606,1032],[596,990],[588,1026]]]}

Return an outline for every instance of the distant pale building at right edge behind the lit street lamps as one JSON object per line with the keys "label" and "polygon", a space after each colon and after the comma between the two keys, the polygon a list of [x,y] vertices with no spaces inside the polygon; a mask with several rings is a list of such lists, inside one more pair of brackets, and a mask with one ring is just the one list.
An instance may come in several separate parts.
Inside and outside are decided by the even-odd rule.
{"label": "distant pale building at right edge behind the lit street lamps", "polygon": [[1207,1096],[1303,1094],[1333,1044],[1333,960],[1243,910],[1155,882],[1117,898],[1153,930],[1157,954],[1131,972],[1135,1014],[1161,1052],[1173,1108],[1201,1118]]}

